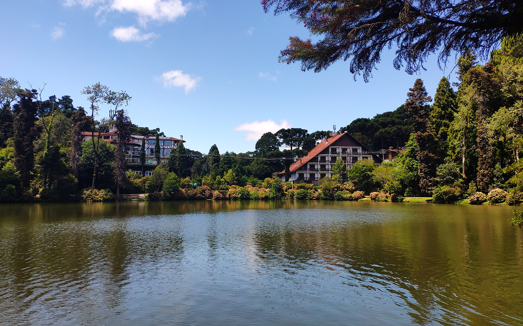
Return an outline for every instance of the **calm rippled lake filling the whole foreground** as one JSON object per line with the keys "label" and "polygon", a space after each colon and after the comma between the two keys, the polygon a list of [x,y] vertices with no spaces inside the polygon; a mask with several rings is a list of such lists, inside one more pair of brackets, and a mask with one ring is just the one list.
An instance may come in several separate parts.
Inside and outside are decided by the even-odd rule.
{"label": "calm rippled lake filling the whole foreground", "polygon": [[522,325],[512,207],[0,205],[2,325]]}

